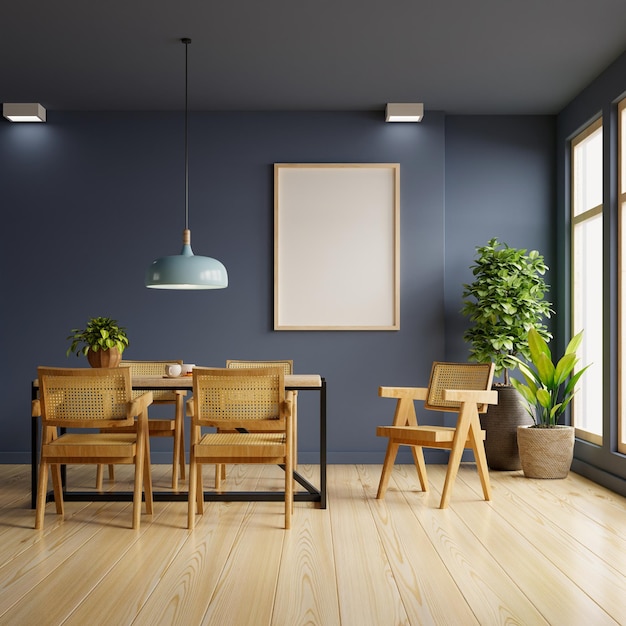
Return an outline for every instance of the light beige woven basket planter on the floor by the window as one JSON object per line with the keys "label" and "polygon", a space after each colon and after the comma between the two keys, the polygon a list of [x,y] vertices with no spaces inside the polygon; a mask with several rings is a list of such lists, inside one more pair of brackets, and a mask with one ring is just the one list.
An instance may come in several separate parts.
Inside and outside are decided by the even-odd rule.
{"label": "light beige woven basket planter on the floor by the window", "polygon": [[517,444],[524,476],[565,478],[574,458],[574,427],[517,429]]}

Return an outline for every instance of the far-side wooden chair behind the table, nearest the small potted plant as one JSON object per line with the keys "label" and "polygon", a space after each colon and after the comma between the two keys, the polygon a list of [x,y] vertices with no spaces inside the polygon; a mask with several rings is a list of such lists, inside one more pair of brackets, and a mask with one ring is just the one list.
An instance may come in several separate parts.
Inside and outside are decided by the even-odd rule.
{"label": "far-side wooden chair behind the table, nearest the small potted plant", "polygon": [[[120,367],[129,367],[131,378],[135,376],[163,376],[165,366],[172,363],[182,365],[181,360],[174,361],[122,361]],[[141,391],[133,391],[133,397],[141,395]],[[178,489],[178,470],[180,477],[185,479],[185,406],[184,390],[155,390],[152,392],[153,404],[174,404],[174,418],[150,418],[148,433],[150,437],[172,437],[174,440],[172,459],[172,489]],[[130,432],[130,430],[129,430]],[[102,489],[102,466],[98,466],[96,488]],[[115,478],[113,466],[109,465],[109,479]]]}

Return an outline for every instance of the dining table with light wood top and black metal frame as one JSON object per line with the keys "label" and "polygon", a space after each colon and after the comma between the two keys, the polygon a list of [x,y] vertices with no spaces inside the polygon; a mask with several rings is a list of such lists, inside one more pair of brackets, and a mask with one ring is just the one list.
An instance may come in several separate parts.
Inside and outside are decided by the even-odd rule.
{"label": "dining table with light wood top and black metal frame", "polygon": [[[134,376],[131,381],[133,390],[157,391],[157,390],[193,390],[193,378],[189,375],[167,376]],[[317,392],[319,395],[319,484],[314,485],[297,468],[294,470],[294,480],[303,488],[294,492],[296,502],[315,502],[322,509],[326,508],[326,379],[319,374],[285,374],[285,390]],[[31,399],[39,397],[39,381],[34,379],[31,385]],[[36,403],[35,403],[36,404]],[[37,411],[31,411],[31,507],[36,508],[37,480],[39,466],[39,439],[40,439],[40,415]],[[301,419],[299,415],[299,419]],[[64,468],[62,468],[64,469]],[[72,490],[67,485],[65,472],[63,474],[63,497],[66,501],[132,501],[132,491],[78,491]],[[49,492],[47,499],[53,499]],[[186,490],[166,490],[153,492],[155,501],[187,501],[189,497]],[[282,501],[282,491],[211,491],[205,490],[204,499],[211,501]]]}

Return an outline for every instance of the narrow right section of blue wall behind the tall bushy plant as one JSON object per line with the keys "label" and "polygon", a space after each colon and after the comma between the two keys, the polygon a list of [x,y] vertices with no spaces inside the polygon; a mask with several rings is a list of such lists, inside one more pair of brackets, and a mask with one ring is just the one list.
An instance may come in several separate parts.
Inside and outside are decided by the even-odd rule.
{"label": "narrow right section of blue wall behind the tall bushy plant", "polygon": [[[474,246],[497,237],[538,250],[556,286],[553,117],[456,116],[446,120],[446,354],[467,358],[463,283],[473,280]],[[556,290],[556,289],[555,289]],[[554,291],[555,291],[554,290]],[[554,300],[551,292],[547,299]]]}

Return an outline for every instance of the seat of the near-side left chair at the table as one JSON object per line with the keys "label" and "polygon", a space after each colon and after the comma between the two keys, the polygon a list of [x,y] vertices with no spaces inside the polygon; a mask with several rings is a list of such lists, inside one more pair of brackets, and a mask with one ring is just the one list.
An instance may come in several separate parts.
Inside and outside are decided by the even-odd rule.
{"label": "seat of the near-side left chair at the table", "polygon": [[137,434],[78,434],[68,433],[43,446],[48,459],[85,455],[97,458],[135,456]]}

